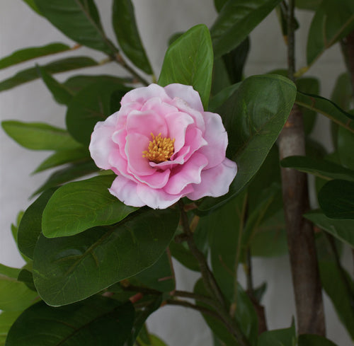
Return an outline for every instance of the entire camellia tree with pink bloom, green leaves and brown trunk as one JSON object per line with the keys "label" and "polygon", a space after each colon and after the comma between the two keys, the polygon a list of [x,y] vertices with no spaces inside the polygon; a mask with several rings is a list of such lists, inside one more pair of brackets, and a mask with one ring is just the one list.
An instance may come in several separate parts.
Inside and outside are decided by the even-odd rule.
{"label": "entire camellia tree with pink bloom, green leaves and brown trunk", "polygon": [[[53,151],[36,172],[56,171],[13,226],[27,264],[0,266],[0,342],[165,345],[145,322],[170,304],[202,313],[215,346],[333,346],[323,289],[354,339],[354,283],[341,265],[343,243],[354,247],[353,1],[338,8],[333,0],[215,0],[210,29],[173,35],[158,79],[130,0],[112,1],[118,45],[93,0],[24,1],[129,77],[74,75],[59,83],[53,74],[98,65],[64,57],[0,82],[4,91],[40,78],[67,105],[67,129],[2,122],[26,148]],[[308,68],[295,69],[295,5],[314,11],[308,67],[341,42],[348,74],[338,77],[332,100],[302,76]],[[288,69],[243,79],[248,35],[273,9]],[[0,68],[68,50],[25,48]],[[309,140],[316,113],[332,120],[333,153]],[[321,209],[309,209],[305,173],[317,177]],[[251,258],[287,248],[296,323],[267,330],[265,285],[253,287]],[[193,292],[176,289],[171,258],[200,272]],[[246,287],[237,280],[241,264]]]}

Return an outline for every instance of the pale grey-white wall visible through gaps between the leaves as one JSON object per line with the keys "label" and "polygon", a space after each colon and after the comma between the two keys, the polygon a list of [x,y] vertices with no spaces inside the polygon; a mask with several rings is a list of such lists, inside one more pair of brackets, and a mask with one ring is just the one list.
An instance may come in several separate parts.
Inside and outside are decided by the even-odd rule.
{"label": "pale grey-white wall visible through gaps between the leaves", "polygon": [[[147,48],[155,74],[159,75],[166,42],[169,36],[186,30],[198,23],[211,25],[216,16],[212,0],[133,0],[142,40]],[[108,0],[96,0],[103,26],[108,36],[114,40],[110,26],[110,4]],[[297,12],[301,25],[297,31],[297,68],[305,66],[306,38],[312,13]],[[0,57],[11,54],[23,47],[45,45],[49,42],[73,42],[64,37],[44,18],[37,16],[21,0],[1,0],[0,2]],[[95,59],[103,59],[103,54],[82,48],[71,55],[90,54]],[[41,63],[59,59],[45,57]],[[21,69],[32,67],[33,62],[25,63]],[[263,74],[275,68],[286,67],[285,44],[275,13],[261,23],[251,34],[251,53],[246,66],[246,76]],[[19,67],[11,67],[0,71],[0,80],[6,79],[18,71]],[[310,69],[308,76],[316,76],[321,80],[321,95],[329,97],[336,81],[336,76],[344,71],[340,50],[331,48]],[[82,74],[120,74],[122,70],[117,64],[110,63],[103,67],[81,70]],[[60,81],[69,74],[60,74]],[[57,105],[41,81],[24,84],[10,91],[0,93],[1,120],[16,119],[28,122],[49,122],[52,125],[64,126],[65,108]],[[329,130],[326,120],[316,123],[314,137],[321,138],[327,148]],[[0,263],[13,267],[21,266],[16,246],[11,238],[10,225],[16,220],[18,211],[30,204],[28,196],[37,188],[49,173],[30,175],[38,164],[49,153],[28,151],[6,137],[0,130]],[[349,263],[350,256],[346,256]],[[265,308],[269,328],[286,328],[295,314],[290,268],[287,257],[276,259],[254,260],[255,284],[268,282],[265,294]],[[198,278],[193,272],[183,270],[176,263],[178,289],[192,289]],[[338,346],[353,345],[346,331],[338,322],[333,307],[325,297],[326,323],[329,338]],[[179,307],[164,307],[149,319],[152,332],[158,334],[171,346],[209,346],[212,345],[210,332],[202,318],[195,311]]]}

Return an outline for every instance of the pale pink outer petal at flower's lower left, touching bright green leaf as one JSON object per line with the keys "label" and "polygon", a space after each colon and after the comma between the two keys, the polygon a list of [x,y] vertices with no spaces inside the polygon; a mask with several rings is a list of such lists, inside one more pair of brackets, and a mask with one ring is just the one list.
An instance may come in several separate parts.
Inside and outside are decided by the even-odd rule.
{"label": "pale pink outer petal at flower's lower left, touching bright green leaf", "polygon": [[137,183],[124,178],[122,175],[118,175],[113,180],[112,186],[108,190],[124,204],[131,205],[132,207],[142,207],[145,205],[137,195]]}

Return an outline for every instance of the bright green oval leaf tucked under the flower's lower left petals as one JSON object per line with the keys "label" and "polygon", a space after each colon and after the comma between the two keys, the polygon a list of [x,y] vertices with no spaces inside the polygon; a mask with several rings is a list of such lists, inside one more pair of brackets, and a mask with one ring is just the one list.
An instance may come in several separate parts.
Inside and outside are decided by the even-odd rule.
{"label": "bright green oval leaf tucked under the flower's lower left petals", "polygon": [[108,191],[115,178],[100,175],[56,190],[43,211],[43,235],[74,236],[94,226],[115,224],[135,212],[137,208],[125,205]]}

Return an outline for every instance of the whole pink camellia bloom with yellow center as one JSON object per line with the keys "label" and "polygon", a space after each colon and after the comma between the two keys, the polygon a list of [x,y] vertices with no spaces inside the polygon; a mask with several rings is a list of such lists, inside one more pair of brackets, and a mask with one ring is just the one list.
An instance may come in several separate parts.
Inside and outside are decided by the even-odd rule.
{"label": "whole pink camellia bloom with yellow center", "polygon": [[237,166],[226,148],[221,117],[205,112],[198,92],[182,84],[129,91],[120,110],[96,124],[89,146],[96,165],[118,175],[112,195],[154,209],[227,193]]}

